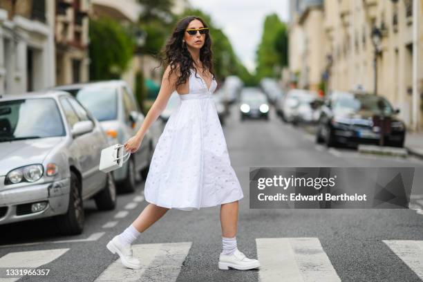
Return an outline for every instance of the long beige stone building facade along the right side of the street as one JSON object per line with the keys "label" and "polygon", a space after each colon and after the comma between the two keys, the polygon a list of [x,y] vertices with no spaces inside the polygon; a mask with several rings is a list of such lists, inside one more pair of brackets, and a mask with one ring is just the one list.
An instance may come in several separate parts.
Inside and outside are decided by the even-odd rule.
{"label": "long beige stone building facade along the right side of the street", "polygon": [[[295,2],[300,3],[295,6]],[[301,21],[304,15],[301,0],[292,0],[290,44],[298,41],[297,29],[301,28],[305,34],[303,53],[298,54],[296,50],[290,53],[290,71],[298,68],[306,71],[306,78],[300,71],[299,86],[311,88],[311,83],[301,83],[301,79],[311,79],[307,71],[314,68],[321,72],[321,82],[329,91],[359,88],[383,95],[400,109],[400,116],[408,128],[422,129],[423,5],[420,2],[325,0],[321,6],[323,21],[313,21],[316,25],[321,24],[324,35],[310,45],[307,19]],[[295,15],[300,16],[296,18]],[[316,26],[313,28],[320,30]],[[296,47],[292,45],[290,50]],[[314,62],[314,66],[308,63],[314,51],[310,48],[321,51],[322,61]]]}

